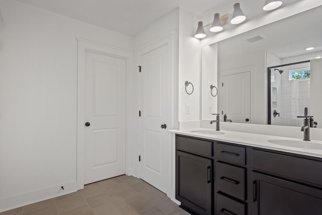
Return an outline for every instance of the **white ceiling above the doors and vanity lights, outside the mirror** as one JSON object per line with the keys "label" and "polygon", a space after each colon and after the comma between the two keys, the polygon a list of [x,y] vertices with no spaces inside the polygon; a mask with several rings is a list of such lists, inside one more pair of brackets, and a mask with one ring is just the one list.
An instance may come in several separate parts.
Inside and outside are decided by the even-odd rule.
{"label": "white ceiling above the doors and vanity lights, outside the mirror", "polygon": [[[17,0],[62,16],[112,31],[135,36],[137,33],[181,7],[202,19],[212,21],[214,13],[232,14],[240,3],[248,19],[265,15],[265,0]],[[283,0],[282,7],[300,0]],[[197,26],[197,23],[196,23]]]}

